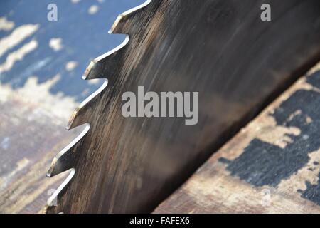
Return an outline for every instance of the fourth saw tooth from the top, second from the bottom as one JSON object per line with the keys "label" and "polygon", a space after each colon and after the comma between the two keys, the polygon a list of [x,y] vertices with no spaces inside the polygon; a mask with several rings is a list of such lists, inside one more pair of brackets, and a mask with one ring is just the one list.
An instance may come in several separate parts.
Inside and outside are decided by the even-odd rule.
{"label": "fourth saw tooth from the top, second from the bottom", "polygon": [[82,130],[77,138],[70,142],[70,144],[63,148],[63,150],[58,152],[58,155],[55,155],[47,172],[47,177],[53,177],[74,167],[75,159],[77,156],[77,154],[75,154],[74,152],[75,147],[77,147],[82,142],[82,139],[84,138],[85,134],[87,134],[89,128],[90,125],[87,124],[85,126],[85,129]]}

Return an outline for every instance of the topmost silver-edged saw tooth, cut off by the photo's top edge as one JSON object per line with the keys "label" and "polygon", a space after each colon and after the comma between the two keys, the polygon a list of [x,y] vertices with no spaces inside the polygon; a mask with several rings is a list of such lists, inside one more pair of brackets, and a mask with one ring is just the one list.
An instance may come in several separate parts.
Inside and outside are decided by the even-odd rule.
{"label": "topmost silver-edged saw tooth, cut off by the photo's top edge", "polygon": [[134,29],[134,24],[139,23],[141,14],[144,12],[144,8],[154,0],[147,0],[143,4],[136,6],[124,13],[120,14],[114,21],[114,24],[110,28],[109,33],[113,34],[131,34]]}

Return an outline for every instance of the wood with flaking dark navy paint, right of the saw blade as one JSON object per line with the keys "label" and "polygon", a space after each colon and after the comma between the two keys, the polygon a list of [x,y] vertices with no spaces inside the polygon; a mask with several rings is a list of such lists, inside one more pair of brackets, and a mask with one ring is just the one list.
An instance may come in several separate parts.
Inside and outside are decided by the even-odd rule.
{"label": "wood with flaking dark navy paint, right of the saw blade", "polygon": [[320,213],[320,64],[154,213]]}

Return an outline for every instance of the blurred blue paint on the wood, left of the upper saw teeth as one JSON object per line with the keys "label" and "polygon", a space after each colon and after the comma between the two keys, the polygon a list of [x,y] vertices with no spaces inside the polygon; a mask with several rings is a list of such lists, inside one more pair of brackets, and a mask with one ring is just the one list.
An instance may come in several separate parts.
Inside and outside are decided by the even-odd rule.
{"label": "blurred blue paint on the wood, left of the upper saw teeth", "polygon": [[[70,0],[37,1],[8,0],[0,2],[0,16],[14,21],[15,27],[23,24],[39,24],[33,36],[6,52],[0,58],[0,64],[6,60],[11,51],[21,48],[32,39],[38,41],[38,48],[28,53],[23,61],[17,61],[11,71],[0,73],[0,83],[9,83],[20,88],[30,76],[37,76],[40,83],[60,73],[58,83],[50,89],[52,93],[62,92],[81,101],[97,89],[99,84],[88,84],[81,80],[92,58],[100,56],[119,45],[124,35],[107,33],[119,14],[144,2],[144,0],[105,0],[79,1],[73,4]],[[47,6],[55,3],[58,6],[58,21],[48,21]],[[97,5],[96,14],[89,14],[88,9]],[[8,36],[11,31],[0,31],[0,38]],[[62,38],[64,48],[53,51],[48,43],[50,38]],[[66,71],[68,61],[78,62],[73,71]],[[85,93],[86,92],[86,93]]]}

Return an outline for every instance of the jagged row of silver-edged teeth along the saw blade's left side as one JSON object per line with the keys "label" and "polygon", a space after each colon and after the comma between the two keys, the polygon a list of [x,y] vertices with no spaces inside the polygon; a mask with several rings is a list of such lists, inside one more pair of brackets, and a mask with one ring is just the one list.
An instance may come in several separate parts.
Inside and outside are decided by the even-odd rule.
{"label": "jagged row of silver-edged teeth along the saw blade's left side", "polygon": [[144,7],[149,5],[151,1],[155,0],[147,0],[144,2],[144,4],[125,11],[123,14],[120,14],[118,16],[109,33],[126,34],[126,38],[116,48],[91,61],[89,66],[85,70],[84,75],[82,76],[82,78],[85,80],[105,78],[105,83],[103,83],[103,85],[98,90],[96,90],[95,93],[92,93],[92,95],[90,95],[87,99],[80,103],[79,107],[73,112],[73,115],[69,120],[67,126],[68,130],[83,124],[86,124],[86,126],[82,133],[80,133],[80,135],[78,135],[78,137],[75,138],[73,142],[70,142],[67,147],[61,150],[58,155],[54,157],[53,162],[50,165],[47,177],[53,177],[67,170],[70,170],[70,174],[68,175],[67,179],[65,179],[65,181],[63,181],[63,183],[58,187],[58,190],[56,190],[48,199],[49,206],[53,204],[53,201],[57,199],[59,195],[63,194],[66,185],[70,183],[70,180],[73,179],[73,176],[77,172],[77,170],[75,170],[75,165],[78,160],[78,156],[80,155],[76,154],[75,152],[80,150],[78,146],[82,144],[85,138],[84,136],[90,129],[90,121],[87,120],[87,118],[91,113],[95,111],[95,101],[100,99],[100,93],[105,90],[108,81],[112,82],[112,79],[119,75],[120,69],[122,68],[121,64],[123,64],[123,61],[125,59],[124,54],[127,50],[126,46],[129,42],[129,36],[136,27],[134,26],[134,24],[142,23],[142,21],[139,21],[139,17],[144,18],[144,16],[142,16],[140,13],[144,12]]}

